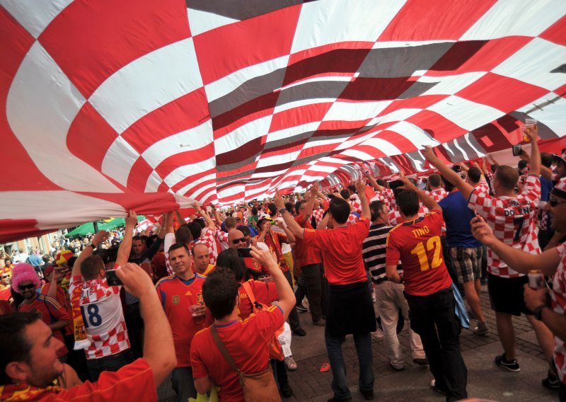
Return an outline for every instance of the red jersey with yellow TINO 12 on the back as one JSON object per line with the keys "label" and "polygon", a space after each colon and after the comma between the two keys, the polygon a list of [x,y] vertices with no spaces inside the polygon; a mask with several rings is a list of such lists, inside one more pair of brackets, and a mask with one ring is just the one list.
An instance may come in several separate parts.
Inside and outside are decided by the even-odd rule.
{"label": "red jersey with yellow TINO 12 on the back", "polygon": [[397,265],[401,261],[407,294],[428,296],[452,284],[442,258],[440,232],[443,224],[442,211],[434,209],[389,232],[386,265]]}

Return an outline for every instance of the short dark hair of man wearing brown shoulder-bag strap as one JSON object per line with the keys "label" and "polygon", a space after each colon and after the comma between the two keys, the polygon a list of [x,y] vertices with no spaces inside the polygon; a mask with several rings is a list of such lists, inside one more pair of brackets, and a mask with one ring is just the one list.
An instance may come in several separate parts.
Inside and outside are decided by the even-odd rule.
{"label": "short dark hair of man wearing brown shoulder-bag strap", "polygon": [[202,299],[217,320],[232,314],[239,284],[231,270],[216,268],[202,284]]}

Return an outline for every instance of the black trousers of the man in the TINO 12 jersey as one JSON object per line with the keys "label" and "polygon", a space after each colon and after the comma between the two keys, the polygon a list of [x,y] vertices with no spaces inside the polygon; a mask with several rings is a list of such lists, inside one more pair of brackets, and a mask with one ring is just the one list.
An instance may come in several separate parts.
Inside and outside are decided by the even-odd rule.
{"label": "black trousers of the man in the TINO 12 jersey", "polygon": [[452,289],[405,297],[412,331],[420,335],[436,386],[446,391],[446,401],[467,398],[468,369],[460,352],[461,326],[454,312]]}

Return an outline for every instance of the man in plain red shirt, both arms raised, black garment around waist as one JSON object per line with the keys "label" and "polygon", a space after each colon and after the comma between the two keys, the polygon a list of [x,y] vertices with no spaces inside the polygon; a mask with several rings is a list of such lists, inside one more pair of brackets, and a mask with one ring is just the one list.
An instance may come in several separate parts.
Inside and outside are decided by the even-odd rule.
{"label": "man in plain red shirt, both arms raised, black garment around waist", "polygon": [[346,367],[342,355],[342,342],[347,334],[354,335],[359,360],[359,391],[366,400],[374,398],[374,372],[371,355],[371,332],[376,331],[374,304],[369,293],[368,277],[362,260],[362,245],[369,234],[369,205],[365,194],[365,181],[356,183],[362,195],[362,215],[354,224],[347,224],[350,204],[339,197],[330,201],[329,222],[334,229],[304,229],[284,207],[277,193],[275,205],[289,230],[305,246],[315,246],[324,253],[324,271],[328,279],[328,315],[326,316],[325,343],[332,368],[333,398],[329,401],[350,401],[352,394],[346,382]]}

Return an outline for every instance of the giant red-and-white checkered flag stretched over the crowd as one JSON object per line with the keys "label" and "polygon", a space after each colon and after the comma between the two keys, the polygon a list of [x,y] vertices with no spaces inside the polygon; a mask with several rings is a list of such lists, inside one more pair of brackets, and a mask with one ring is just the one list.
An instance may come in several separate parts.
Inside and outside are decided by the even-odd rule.
{"label": "giant red-and-white checkered flag stretched over the crowd", "polygon": [[[0,242],[566,133],[566,2],[0,0]],[[331,175],[335,176],[331,176]],[[340,175],[338,175],[340,176]],[[329,182],[330,183],[330,182]]]}

